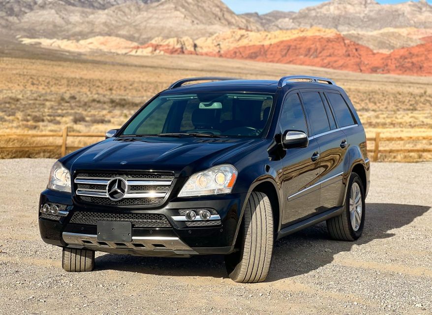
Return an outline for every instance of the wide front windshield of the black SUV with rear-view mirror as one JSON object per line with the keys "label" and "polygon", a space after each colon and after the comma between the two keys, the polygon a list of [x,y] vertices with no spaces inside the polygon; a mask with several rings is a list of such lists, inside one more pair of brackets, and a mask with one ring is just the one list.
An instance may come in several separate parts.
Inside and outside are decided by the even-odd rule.
{"label": "wide front windshield of the black SUV with rear-view mirror", "polygon": [[260,137],[272,106],[273,97],[265,94],[160,95],[122,135]]}

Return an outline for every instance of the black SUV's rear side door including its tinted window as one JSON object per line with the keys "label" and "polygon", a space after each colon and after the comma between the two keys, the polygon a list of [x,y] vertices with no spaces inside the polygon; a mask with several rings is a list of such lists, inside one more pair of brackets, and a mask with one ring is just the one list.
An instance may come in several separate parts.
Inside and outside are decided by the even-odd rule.
{"label": "black SUV's rear side door including its tinted window", "polygon": [[320,201],[317,213],[341,205],[343,196],[343,161],[347,139],[337,126],[332,109],[322,92],[303,92],[313,137],[320,148]]}

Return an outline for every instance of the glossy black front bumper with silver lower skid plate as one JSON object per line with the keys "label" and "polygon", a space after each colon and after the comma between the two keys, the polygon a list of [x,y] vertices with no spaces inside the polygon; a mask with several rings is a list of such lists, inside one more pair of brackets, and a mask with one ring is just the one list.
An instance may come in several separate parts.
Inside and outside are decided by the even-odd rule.
{"label": "glossy black front bumper with silver lower skid plate", "polygon": [[[67,216],[50,220],[41,218],[39,230],[44,242],[60,247],[91,249],[101,252],[146,256],[190,256],[196,254],[228,254],[234,250],[235,235],[246,193],[214,195],[196,198],[177,198],[154,209],[125,207],[93,207],[77,205],[64,193],[45,190],[40,196],[39,208],[45,203],[67,205]],[[180,209],[211,208],[220,216],[217,226],[187,226],[175,221]],[[70,220],[75,212],[104,212],[110,214],[162,214],[171,227],[133,227],[132,242],[98,242],[97,228],[92,224],[76,224]]]}

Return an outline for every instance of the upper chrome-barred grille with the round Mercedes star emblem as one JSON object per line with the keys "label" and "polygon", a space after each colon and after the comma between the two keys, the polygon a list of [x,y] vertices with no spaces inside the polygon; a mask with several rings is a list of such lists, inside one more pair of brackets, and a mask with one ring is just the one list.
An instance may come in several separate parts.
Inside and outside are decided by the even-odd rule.
{"label": "upper chrome-barred grille with the round Mercedes star emblem", "polygon": [[[119,178],[121,192],[110,192]],[[75,194],[83,203],[112,206],[158,205],[174,180],[173,172],[78,172]],[[111,181],[111,182],[110,182]],[[111,183],[111,184],[110,184]],[[110,198],[111,197],[111,198]],[[120,198],[120,199],[119,199]],[[115,200],[113,200],[115,199]]]}

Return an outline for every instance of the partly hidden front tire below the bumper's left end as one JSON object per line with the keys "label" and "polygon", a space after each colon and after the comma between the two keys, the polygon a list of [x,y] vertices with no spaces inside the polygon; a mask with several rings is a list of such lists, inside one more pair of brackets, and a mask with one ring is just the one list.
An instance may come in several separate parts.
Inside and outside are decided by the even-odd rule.
{"label": "partly hidden front tire below the bumper's left end", "polygon": [[92,271],[94,251],[63,248],[62,267],[67,272]]}

